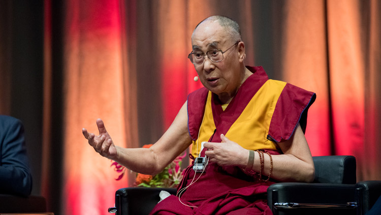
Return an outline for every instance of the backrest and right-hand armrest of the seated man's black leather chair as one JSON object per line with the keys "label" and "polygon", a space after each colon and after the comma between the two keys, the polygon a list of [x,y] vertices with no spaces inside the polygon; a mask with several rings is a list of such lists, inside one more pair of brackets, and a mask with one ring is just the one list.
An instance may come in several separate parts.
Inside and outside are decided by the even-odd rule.
{"label": "backrest and right-hand armrest of the seated man's black leather chair", "polygon": [[267,189],[274,214],[357,214],[356,159],[313,157],[313,183],[277,183]]}

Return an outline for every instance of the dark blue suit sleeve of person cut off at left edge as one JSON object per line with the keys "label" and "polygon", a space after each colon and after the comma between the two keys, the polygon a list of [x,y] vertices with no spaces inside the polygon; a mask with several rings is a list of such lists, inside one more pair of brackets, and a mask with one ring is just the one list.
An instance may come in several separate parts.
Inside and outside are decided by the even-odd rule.
{"label": "dark blue suit sleeve of person cut off at left edge", "polygon": [[31,188],[22,122],[0,115],[0,194],[28,196]]}

